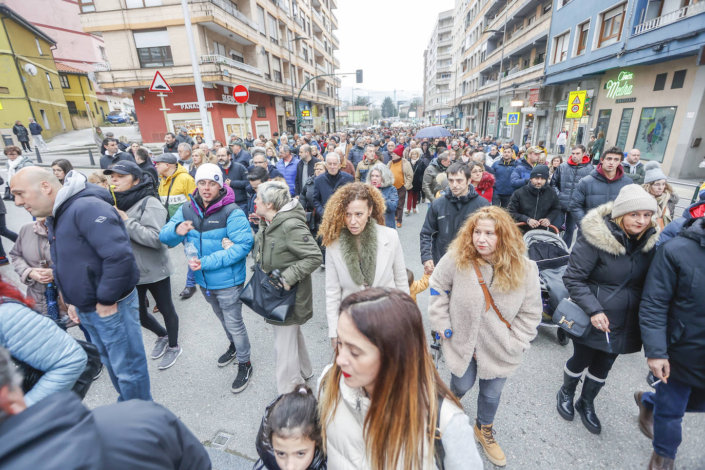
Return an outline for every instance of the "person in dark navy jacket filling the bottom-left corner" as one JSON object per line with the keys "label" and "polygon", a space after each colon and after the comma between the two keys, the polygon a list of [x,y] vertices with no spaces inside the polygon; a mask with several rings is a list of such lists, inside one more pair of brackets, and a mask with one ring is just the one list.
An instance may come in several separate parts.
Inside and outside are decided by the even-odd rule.
{"label": "person in dark navy jacket filling the bottom-left corner", "polygon": [[1,470],[211,469],[205,447],[160,404],[129,400],[89,410],[75,393],[58,392],[27,407],[21,383],[0,347]]}

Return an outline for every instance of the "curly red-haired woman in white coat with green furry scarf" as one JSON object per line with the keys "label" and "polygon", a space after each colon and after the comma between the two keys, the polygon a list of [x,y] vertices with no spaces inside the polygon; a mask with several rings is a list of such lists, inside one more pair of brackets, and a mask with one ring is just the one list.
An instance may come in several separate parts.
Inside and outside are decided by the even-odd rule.
{"label": "curly red-haired woman in white coat with green furry scarf", "polygon": [[399,235],[384,225],[385,212],[381,192],[360,182],[339,187],[326,203],[318,234],[326,247],[326,315],[333,347],[345,297],[369,287],[409,293]]}

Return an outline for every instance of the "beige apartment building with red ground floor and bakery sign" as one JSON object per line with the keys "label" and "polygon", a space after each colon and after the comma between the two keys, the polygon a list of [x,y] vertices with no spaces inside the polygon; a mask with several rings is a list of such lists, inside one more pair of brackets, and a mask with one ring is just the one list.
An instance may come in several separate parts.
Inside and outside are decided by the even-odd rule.
{"label": "beige apartment building with red ground floor and bakery sign", "polygon": [[[196,55],[214,137],[231,132],[271,136],[273,132],[335,128],[339,42],[332,10],[337,0],[187,0]],[[86,32],[102,35],[107,61],[94,65],[106,88],[128,90],[145,142],[185,126],[202,132],[185,22],[179,0],[81,0]],[[173,93],[161,101],[149,92],[159,70]],[[238,116],[235,85],[247,85],[251,118]],[[292,95],[298,97],[294,109]]]}

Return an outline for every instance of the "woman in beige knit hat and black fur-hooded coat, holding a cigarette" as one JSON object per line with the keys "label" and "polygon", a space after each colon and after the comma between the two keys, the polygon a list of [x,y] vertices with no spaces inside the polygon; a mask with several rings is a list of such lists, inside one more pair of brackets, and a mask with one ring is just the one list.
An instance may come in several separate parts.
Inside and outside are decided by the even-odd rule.
{"label": "woman in beige knit hat and black fur-hooded coat, holding a cigarette", "polygon": [[[654,257],[658,229],[652,220],[656,199],[639,185],[623,187],[613,202],[597,206],[580,224],[563,282],[570,298],[591,317],[591,326],[574,337],[574,352],[563,369],[558,414],[572,421],[575,410],[594,434],[601,423],[594,399],[619,354],[642,350],[639,302],[646,271]],[[623,285],[609,302],[604,302]],[[575,388],[587,369],[582,393],[573,406]]]}

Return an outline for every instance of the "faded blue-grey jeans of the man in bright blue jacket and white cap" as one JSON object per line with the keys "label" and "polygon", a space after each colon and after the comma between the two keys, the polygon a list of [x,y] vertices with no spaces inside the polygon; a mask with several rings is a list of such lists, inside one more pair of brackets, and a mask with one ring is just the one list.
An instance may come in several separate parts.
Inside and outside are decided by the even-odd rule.
{"label": "faded blue-grey jeans of the man in bright blue jacket and white cap", "polygon": [[243,285],[226,287],[225,289],[209,289],[210,295],[201,287],[203,297],[211,304],[214,313],[221,321],[228,340],[235,345],[238,362],[250,361],[250,338],[243,322],[243,302],[240,302],[240,292]]}

